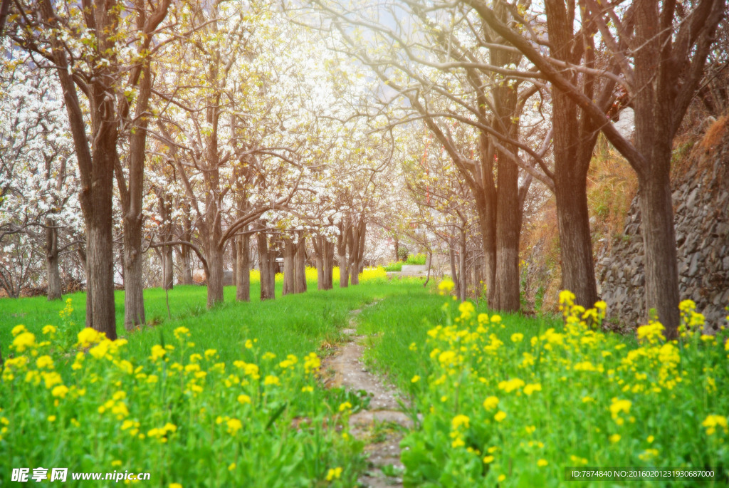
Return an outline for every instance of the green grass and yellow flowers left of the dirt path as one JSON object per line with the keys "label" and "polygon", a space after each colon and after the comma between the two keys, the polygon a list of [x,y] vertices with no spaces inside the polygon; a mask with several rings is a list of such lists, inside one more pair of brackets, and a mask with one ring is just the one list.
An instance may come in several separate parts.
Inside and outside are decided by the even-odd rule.
{"label": "green grass and yellow flowers left of the dirt path", "polygon": [[[163,291],[147,290],[147,316],[157,325],[120,330],[128,344],[117,349],[92,342],[85,354],[58,338],[41,342],[50,338],[42,333],[44,325],[54,325],[61,336],[69,321],[75,322],[75,341],[84,319],[83,293],[64,297],[74,306],[66,319],[58,314],[65,302],[2,300],[0,457],[8,466],[67,466],[75,473],[149,472],[150,486],[157,487],[354,486],[364,468],[362,443],[345,435],[348,408],[341,406],[356,411],[366,400],[324,390],[305,364],[311,352],[330,352],[320,346],[340,340],[352,309],[411,290],[426,293],[415,280],[379,278],[286,297],[279,289],[275,301],[236,303],[235,290],[227,287],[226,302],[208,310],[204,287],[176,287],[170,319]],[[257,291],[252,287],[254,296]],[[122,292],[116,301],[122,322]],[[12,329],[19,324],[29,333],[16,330],[11,351]],[[19,349],[21,336],[30,333],[35,344]],[[249,339],[257,339],[251,348]],[[105,347],[109,352],[101,352]],[[257,365],[260,375],[249,373],[246,363]],[[297,422],[303,427],[292,428]],[[0,485],[8,476],[9,470],[0,470]]]}

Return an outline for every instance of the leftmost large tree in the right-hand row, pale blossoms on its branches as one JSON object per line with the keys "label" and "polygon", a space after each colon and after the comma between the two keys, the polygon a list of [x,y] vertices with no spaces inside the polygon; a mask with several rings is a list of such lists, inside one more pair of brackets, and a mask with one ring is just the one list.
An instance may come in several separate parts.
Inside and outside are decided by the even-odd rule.
{"label": "leftmost large tree in the right-hand row, pale blossoms on its branches", "polygon": [[[520,123],[539,87],[523,82],[529,76],[518,69],[520,53],[498,47],[488,29],[450,10],[440,15],[415,1],[389,4],[389,15],[379,23],[370,20],[374,15],[367,9],[315,3],[333,19],[343,39],[339,49],[356,56],[386,85],[381,102],[388,108],[378,107],[372,115],[389,116],[385,127],[423,120],[451,155],[477,202],[489,303],[496,309],[518,310],[523,199],[532,177],[549,182],[544,175],[549,171],[537,170],[545,168],[547,144],[539,144],[539,131]],[[408,15],[399,15],[403,10]],[[420,23],[413,30],[403,18]],[[456,131],[471,144],[454,140]],[[530,135],[534,140],[527,142]],[[544,149],[540,154],[530,144]],[[520,168],[526,175],[520,177]]]}

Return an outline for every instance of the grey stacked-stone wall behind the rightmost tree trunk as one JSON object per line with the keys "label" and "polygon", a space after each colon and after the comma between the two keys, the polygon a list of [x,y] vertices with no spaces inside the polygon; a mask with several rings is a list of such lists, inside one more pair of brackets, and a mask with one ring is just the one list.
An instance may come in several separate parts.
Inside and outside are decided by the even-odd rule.
{"label": "grey stacked-stone wall behind the rightmost tree trunk", "polygon": [[[729,133],[718,144],[700,144],[690,169],[673,187],[680,298],[695,301],[707,330],[728,325],[729,306]],[[706,139],[705,139],[706,141]],[[703,144],[703,143],[702,143]],[[696,155],[697,151],[703,152]],[[598,292],[620,328],[644,322],[644,252],[637,197],[622,236],[597,249]]]}

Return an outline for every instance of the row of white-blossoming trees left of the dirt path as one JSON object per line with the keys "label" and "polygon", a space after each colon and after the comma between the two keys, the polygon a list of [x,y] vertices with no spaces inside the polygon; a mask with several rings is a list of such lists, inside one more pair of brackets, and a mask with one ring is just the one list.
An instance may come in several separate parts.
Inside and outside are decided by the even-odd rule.
{"label": "row of white-blossoming trees left of the dirt path", "polygon": [[[387,185],[378,180],[387,181],[392,141],[368,133],[366,120],[342,123],[368,81],[334,52],[309,57],[306,30],[275,5],[3,1],[2,12],[2,88],[12,96],[3,100],[1,205],[9,213],[0,239],[30,242],[3,253],[9,281],[18,276],[13,253],[28,257],[42,240],[34,228],[55,234],[46,239],[56,256],[49,292],[59,253],[73,251],[85,273],[87,325],[109,338],[115,276],[125,288],[125,326],[145,322],[150,249],[165,287],[173,249],[182,282],[195,256],[208,306],[223,299],[226,252],[236,256],[238,299],[249,298],[253,234],[262,298],[274,295],[280,240],[284,266],[295,270],[284,293],[305,288],[307,236],[320,287],[332,286],[335,249],[340,285],[356,284],[367,222],[385,208]],[[31,191],[31,180],[43,188]]]}

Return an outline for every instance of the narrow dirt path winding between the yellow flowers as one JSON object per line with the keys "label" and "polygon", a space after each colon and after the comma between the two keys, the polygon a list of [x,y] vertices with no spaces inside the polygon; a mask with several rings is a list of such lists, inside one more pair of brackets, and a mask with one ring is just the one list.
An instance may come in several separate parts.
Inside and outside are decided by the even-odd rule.
{"label": "narrow dirt path winding between the yellow flowers", "polygon": [[398,426],[410,429],[413,423],[397,403],[397,390],[367,371],[362,361],[362,341],[366,336],[356,335],[356,316],[361,311],[351,311],[349,328],[342,330],[348,341],[334,356],[324,360],[325,385],[365,390],[372,395],[369,408],[349,418],[352,435],[367,442],[364,452],[369,454],[370,468],[360,476],[359,482],[370,488],[402,487],[402,479],[386,476],[382,468],[392,465],[402,470],[399,444],[403,434]]}

